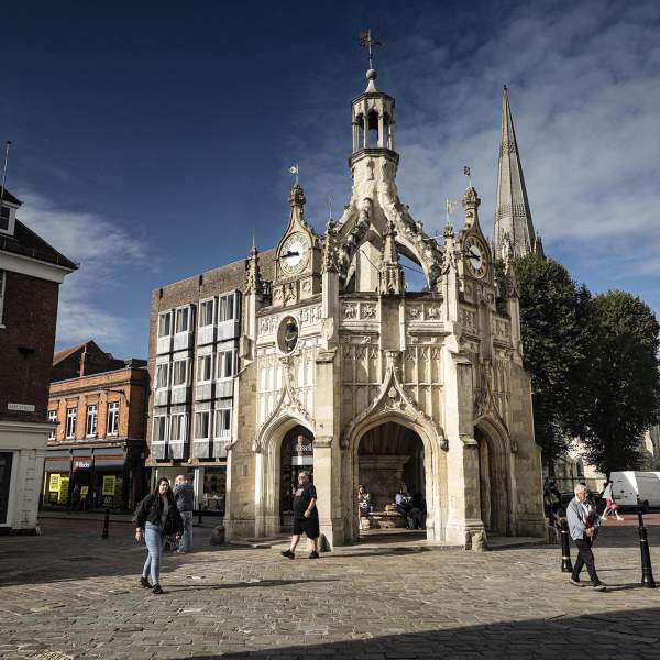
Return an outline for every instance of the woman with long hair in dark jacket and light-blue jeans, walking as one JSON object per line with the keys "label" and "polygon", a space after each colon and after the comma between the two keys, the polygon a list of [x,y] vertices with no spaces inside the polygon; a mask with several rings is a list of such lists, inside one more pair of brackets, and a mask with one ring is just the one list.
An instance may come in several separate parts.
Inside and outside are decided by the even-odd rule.
{"label": "woman with long hair in dark jacket and light-blue jeans, walking", "polygon": [[133,522],[135,524],[135,540],[140,542],[144,538],[148,552],[142,569],[140,584],[145,588],[153,588],[154,594],[162,594],[160,576],[165,537],[175,534],[178,539],[184,532],[184,522],[176,506],[169,481],[158,480],[153,493],[150,493],[138,505]]}

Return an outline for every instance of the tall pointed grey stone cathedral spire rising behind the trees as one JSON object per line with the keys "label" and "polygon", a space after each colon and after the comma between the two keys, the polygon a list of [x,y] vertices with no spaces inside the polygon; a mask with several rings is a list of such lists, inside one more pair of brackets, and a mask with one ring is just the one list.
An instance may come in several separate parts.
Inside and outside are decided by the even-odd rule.
{"label": "tall pointed grey stone cathedral spire rising behind the trees", "polygon": [[506,85],[502,95],[502,136],[497,170],[497,207],[493,242],[495,253],[502,254],[503,243],[508,237],[514,256],[535,251],[536,237],[531,211],[525,188],[522,165],[512,119]]}

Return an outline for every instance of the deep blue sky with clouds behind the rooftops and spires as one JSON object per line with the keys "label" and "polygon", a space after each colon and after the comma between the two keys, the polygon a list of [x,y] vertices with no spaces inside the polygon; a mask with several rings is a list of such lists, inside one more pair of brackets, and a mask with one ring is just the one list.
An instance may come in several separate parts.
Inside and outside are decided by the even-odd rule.
{"label": "deep blue sky with clouds behind the rooftops and spires", "polygon": [[397,101],[399,193],[429,233],[464,164],[492,233],[507,84],[546,251],[592,290],[660,310],[657,2],[24,0],[2,26],[8,188],[81,262],[58,348],[146,356],[151,290],[244,257],[253,229],[272,246],[292,163],[323,227],[328,196],[339,209],[350,195],[367,26]]}

